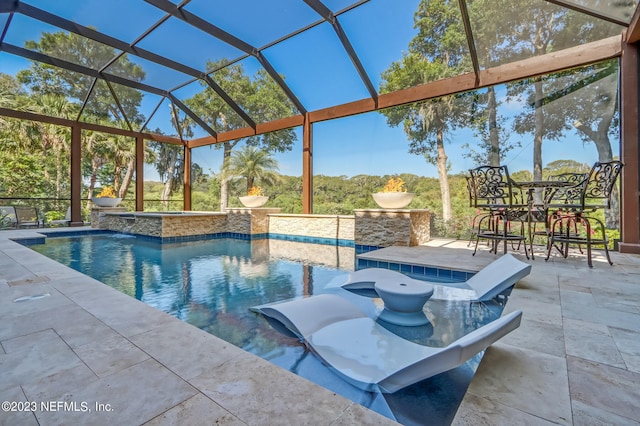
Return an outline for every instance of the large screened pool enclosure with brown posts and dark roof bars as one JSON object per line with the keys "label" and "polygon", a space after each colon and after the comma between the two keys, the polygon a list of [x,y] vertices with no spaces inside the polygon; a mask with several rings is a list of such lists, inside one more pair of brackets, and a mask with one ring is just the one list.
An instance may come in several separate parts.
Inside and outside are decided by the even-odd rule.
{"label": "large screened pool enclosure with brown posts and dark roof bars", "polygon": [[640,253],[635,0],[0,0],[0,198],[138,211],[375,206],[391,176],[460,236],[466,172],[625,164]]}

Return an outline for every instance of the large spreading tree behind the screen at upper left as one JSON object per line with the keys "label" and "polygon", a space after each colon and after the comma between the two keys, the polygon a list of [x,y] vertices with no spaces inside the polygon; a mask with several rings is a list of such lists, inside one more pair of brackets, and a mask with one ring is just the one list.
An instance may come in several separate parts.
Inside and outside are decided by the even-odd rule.
{"label": "large spreading tree behind the screen at upper left", "polygon": [[[38,41],[25,42],[25,47],[91,69],[102,70],[110,64],[104,72],[134,81],[142,81],[145,78],[142,68],[129,61],[126,54],[113,61],[119,55],[114,48],[74,33],[43,33]],[[144,121],[139,113],[142,93],[136,89],[114,83],[109,87],[100,79],[96,81],[94,77],[36,61],[32,62],[29,69],[18,72],[17,78],[33,95],[42,96],[43,99],[65,99],[67,103],[75,104],[76,112],[79,111],[81,102],[86,99],[81,116],[83,121],[110,126],[115,124],[120,127],[128,127],[128,124],[140,125]],[[99,150],[102,156],[99,159],[91,159],[91,167],[84,167],[84,170],[90,170],[90,179],[95,183],[95,167],[109,164],[112,166],[112,176],[107,179],[108,183],[113,184],[116,191],[123,195],[133,178],[134,145],[128,138],[119,136],[99,139],[102,142]],[[95,142],[94,138],[93,141],[85,141],[84,144],[95,148]],[[105,146],[105,143],[109,143],[110,146]],[[93,187],[90,188],[89,195],[92,190]]]}

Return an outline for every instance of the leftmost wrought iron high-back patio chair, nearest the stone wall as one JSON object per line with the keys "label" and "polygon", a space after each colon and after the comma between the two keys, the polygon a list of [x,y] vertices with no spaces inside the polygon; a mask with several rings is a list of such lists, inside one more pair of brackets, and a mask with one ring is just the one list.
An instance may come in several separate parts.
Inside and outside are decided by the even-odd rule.
{"label": "leftmost wrought iron high-back patio chair, nearest the stone wall", "polygon": [[[497,253],[501,241],[504,253],[507,252],[508,242],[518,243],[519,248],[525,241],[523,217],[526,215],[526,205],[521,197],[514,196],[507,166],[480,166],[469,170],[469,173],[474,207],[486,211],[477,221],[473,255],[481,239],[491,242],[491,251],[494,253]],[[522,245],[528,259],[526,244]]]}

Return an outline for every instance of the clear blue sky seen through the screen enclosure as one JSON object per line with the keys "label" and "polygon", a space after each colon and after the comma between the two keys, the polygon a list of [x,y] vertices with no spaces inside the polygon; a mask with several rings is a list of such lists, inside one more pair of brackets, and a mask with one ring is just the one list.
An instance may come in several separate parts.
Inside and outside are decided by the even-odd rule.
{"label": "clear blue sky seen through the screen enclosure", "polygon": [[[325,0],[324,4],[335,12],[351,2]],[[66,19],[94,27],[127,43],[137,39],[164,16],[162,11],[138,0],[26,0],[24,3],[61,14]],[[402,58],[409,42],[416,35],[413,15],[418,3],[418,0],[371,0],[338,18],[376,88],[379,87],[381,73],[391,63]],[[215,8],[212,7],[213,4]],[[127,12],[123,13],[125,9]],[[192,0],[186,9],[255,47],[262,47],[271,40],[319,19],[319,15],[300,0],[234,0],[215,3],[210,0]],[[0,25],[4,27],[6,20],[6,14],[0,15]],[[23,46],[26,40],[38,40],[43,31],[57,30],[16,14],[4,42]],[[208,60],[237,58],[243,54],[235,47],[176,18],[170,18],[158,30],[143,38],[137,47],[166,55],[198,70],[204,70]],[[327,23],[302,36],[268,47],[262,53],[285,76],[287,85],[309,111],[368,97],[365,85]],[[190,80],[189,76],[139,57],[129,55],[129,60],[145,69],[146,84],[164,90],[173,89]],[[252,57],[241,63],[249,74],[255,73],[259,68],[258,61]],[[0,52],[0,72],[13,75],[28,66],[27,60]],[[194,83],[174,93],[179,99],[186,99],[199,88]],[[142,104],[143,114],[151,115],[160,99],[156,95],[146,95]],[[501,114],[509,121],[522,110],[522,105],[517,101],[505,101],[500,108]],[[169,108],[163,104],[151,119],[149,127],[159,127],[167,133],[173,133],[168,117]],[[277,154],[276,159],[281,173],[299,176],[302,174],[302,132],[299,128],[295,132],[298,141],[293,150]],[[202,136],[206,134],[200,129],[195,137]],[[435,165],[427,163],[422,156],[408,153],[409,141],[403,129],[389,127],[386,118],[377,112],[316,123],[313,137],[315,174],[354,176],[413,173],[437,176]],[[531,135],[510,132],[508,137],[511,142],[519,143],[520,147],[512,150],[504,163],[512,171],[531,170]],[[477,140],[473,132],[468,129],[450,131],[445,135],[445,140],[450,172],[460,173],[475,166],[468,158],[469,148],[465,147]],[[617,150],[617,145],[614,149]],[[577,132],[569,130],[559,142],[546,141],[543,145],[545,164],[561,158],[590,164],[597,159],[597,153],[593,144],[584,145]],[[221,159],[219,149],[198,148],[193,151],[193,160],[205,171],[218,172]],[[147,168],[145,178],[155,180],[156,177],[153,168]]]}

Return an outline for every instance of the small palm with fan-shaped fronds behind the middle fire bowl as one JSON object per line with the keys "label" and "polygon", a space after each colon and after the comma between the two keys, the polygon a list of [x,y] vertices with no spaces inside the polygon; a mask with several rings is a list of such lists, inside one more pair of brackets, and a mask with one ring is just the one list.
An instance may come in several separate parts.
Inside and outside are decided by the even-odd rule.
{"label": "small palm with fan-shaped fronds behind the middle fire bowl", "polygon": [[245,145],[240,151],[231,154],[224,175],[228,178],[245,178],[248,192],[257,182],[274,184],[279,177],[278,167],[278,161],[269,151]]}

